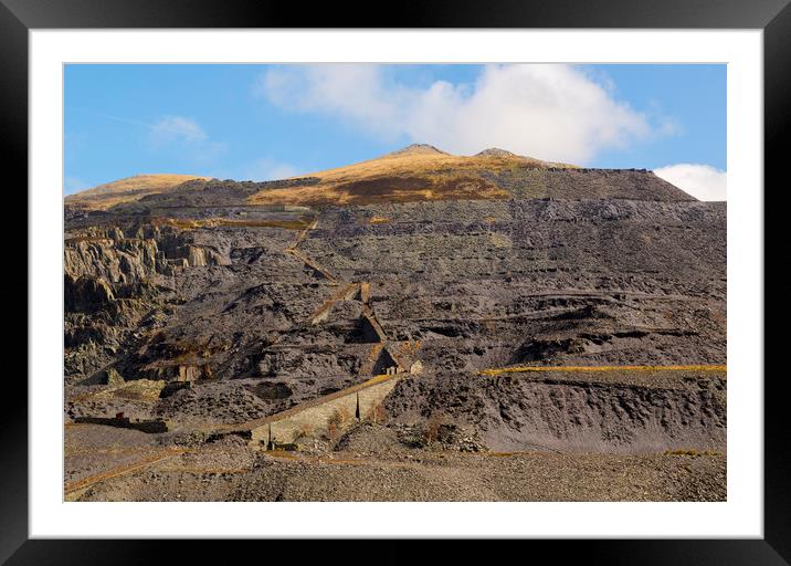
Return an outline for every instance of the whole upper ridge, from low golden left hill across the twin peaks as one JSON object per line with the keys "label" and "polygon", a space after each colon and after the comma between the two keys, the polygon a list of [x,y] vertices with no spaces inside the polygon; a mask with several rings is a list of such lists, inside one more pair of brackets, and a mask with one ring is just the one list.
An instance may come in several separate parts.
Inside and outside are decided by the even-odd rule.
{"label": "whole upper ridge, from low golden left hill across the twin peaks", "polygon": [[312,207],[511,198],[695,200],[646,170],[586,169],[497,148],[454,156],[415,144],[376,159],[265,182],[131,177],[67,197],[66,206],[139,212],[187,206]]}

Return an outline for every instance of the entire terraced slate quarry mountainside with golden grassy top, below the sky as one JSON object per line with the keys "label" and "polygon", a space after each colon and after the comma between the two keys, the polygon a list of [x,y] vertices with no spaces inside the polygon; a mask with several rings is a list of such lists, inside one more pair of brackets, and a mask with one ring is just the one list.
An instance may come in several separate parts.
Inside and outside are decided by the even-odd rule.
{"label": "entire terraced slate quarry mountainside with golden grassy top, below the sky", "polygon": [[725,499],[725,202],[426,145],[156,180],[66,199],[66,474],[190,453],[86,499]]}

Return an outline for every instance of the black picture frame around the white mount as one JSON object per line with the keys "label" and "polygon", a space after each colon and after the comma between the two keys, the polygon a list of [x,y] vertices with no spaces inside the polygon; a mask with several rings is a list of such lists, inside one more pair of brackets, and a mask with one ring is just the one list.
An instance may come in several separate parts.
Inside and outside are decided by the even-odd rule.
{"label": "black picture frame around the white mount", "polygon": [[[766,312],[764,352],[764,538],[706,541],[586,541],[536,542],[552,544],[552,562],[584,554],[586,560],[610,564],[791,564],[791,447],[784,421],[787,398],[784,373],[770,373],[769,361],[783,352],[784,335],[779,324],[788,319],[789,284],[780,271],[790,263],[788,241],[780,214],[789,210],[788,189],[781,185],[787,167],[791,132],[791,0],[488,0],[460,3],[453,0],[418,2],[405,0],[391,10],[372,2],[297,4],[266,0],[0,0],[0,148],[9,181],[3,203],[14,210],[27,232],[28,186],[28,32],[57,28],[636,28],[636,29],[760,29],[763,30],[764,77],[764,304],[778,298]],[[355,14],[354,17],[350,14]],[[788,181],[785,180],[785,185]],[[15,187],[14,190],[9,190]],[[771,193],[772,207],[766,196]],[[8,209],[7,209],[8,210]],[[24,211],[24,213],[23,213]],[[770,222],[777,217],[778,222]],[[772,238],[772,235],[774,238]],[[13,237],[18,240],[18,235]],[[8,564],[138,564],[157,562],[162,543],[140,541],[42,541],[28,539],[28,407],[27,363],[20,355],[28,346],[27,311],[21,296],[28,292],[27,247],[8,244],[8,261],[17,268],[0,280],[11,308],[11,335],[19,344],[8,356],[3,392],[6,402],[0,426],[0,563]],[[771,251],[778,253],[772,254]],[[776,275],[770,277],[770,275]],[[788,280],[785,280],[788,281]],[[777,283],[772,283],[777,282]],[[782,293],[782,295],[781,295]],[[777,331],[770,333],[772,322]],[[30,339],[35,339],[31,336]],[[11,348],[9,348],[11,349]],[[782,366],[777,366],[781,368]],[[762,376],[755,376],[760,379]],[[13,399],[13,402],[9,401]],[[380,546],[378,562],[405,562],[410,553],[394,543]],[[211,555],[207,545],[192,542],[190,551],[180,545],[182,560],[196,553]],[[247,545],[245,545],[247,546]],[[324,546],[326,549],[326,545]],[[235,549],[234,552],[245,552]],[[468,555],[465,545],[455,552]],[[507,552],[498,551],[498,552]],[[270,555],[271,556],[271,555]],[[389,559],[386,559],[389,558]],[[489,557],[491,559],[491,557]],[[201,560],[203,562],[203,560]]]}

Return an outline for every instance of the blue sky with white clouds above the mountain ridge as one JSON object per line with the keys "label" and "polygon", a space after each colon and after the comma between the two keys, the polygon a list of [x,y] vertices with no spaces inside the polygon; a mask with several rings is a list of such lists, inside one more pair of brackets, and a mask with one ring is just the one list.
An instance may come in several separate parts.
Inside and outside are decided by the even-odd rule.
{"label": "blue sky with white clouds above the mountain ridge", "polygon": [[67,193],[144,172],[287,177],[411,143],[726,168],[725,65],[67,65],[64,97]]}

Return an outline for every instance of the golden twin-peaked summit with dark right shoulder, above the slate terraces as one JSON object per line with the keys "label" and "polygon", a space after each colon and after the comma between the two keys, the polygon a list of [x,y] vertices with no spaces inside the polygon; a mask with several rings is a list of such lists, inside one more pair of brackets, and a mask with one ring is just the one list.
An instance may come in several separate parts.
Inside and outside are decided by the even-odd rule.
{"label": "golden twin-peaked summit with dark right shoulder, above the slate terraces", "polygon": [[254,205],[370,205],[422,200],[509,198],[631,198],[694,200],[641,170],[582,169],[503,149],[472,157],[454,156],[429,145],[412,145],[377,159],[313,172],[310,185],[265,189]]}

